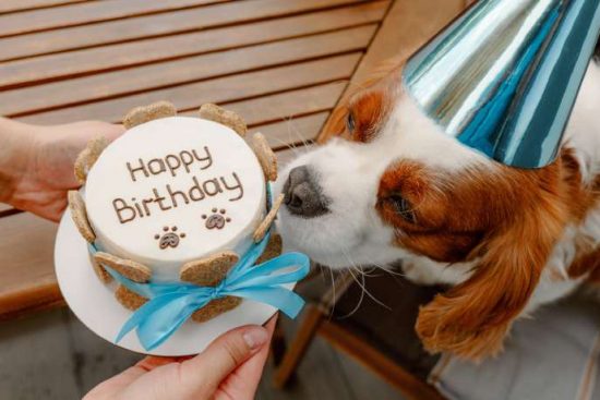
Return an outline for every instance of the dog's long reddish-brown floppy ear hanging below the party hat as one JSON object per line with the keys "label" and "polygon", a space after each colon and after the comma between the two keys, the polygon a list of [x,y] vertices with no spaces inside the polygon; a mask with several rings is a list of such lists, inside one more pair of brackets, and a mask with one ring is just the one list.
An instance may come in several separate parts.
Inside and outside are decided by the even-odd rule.
{"label": "dog's long reddish-brown floppy ear hanging below the party hat", "polygon": [[483,241],[473,275],[420,310],[417,331],[429,351],[477,361],[502,350],[567,218],[556,191],[540,186],[523,214]]}

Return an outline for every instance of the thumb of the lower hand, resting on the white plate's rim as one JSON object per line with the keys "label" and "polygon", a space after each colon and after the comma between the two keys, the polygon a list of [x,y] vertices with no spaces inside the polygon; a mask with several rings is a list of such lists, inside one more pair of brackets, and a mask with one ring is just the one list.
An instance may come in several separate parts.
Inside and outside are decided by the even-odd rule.
{"label": "thumb of the lower hand, resting on the white plate's rim", "polygon": [[191,396],[212,396],[233,369],[264,347],[268,337],[261,326],[240,327],[221,335],[202,353],[181,364],[182,386]]}

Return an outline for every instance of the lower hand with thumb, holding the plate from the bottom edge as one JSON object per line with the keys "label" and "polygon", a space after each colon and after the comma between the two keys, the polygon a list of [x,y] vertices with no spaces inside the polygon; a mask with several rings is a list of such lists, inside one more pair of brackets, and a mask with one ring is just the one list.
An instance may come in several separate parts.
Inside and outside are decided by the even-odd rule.
{"label": "lower hand with thumb, holding the plate from the bottom edge", "polygon": [[230,330],[194,357],[145,357],[84,400],[254,399],[275,323]]}

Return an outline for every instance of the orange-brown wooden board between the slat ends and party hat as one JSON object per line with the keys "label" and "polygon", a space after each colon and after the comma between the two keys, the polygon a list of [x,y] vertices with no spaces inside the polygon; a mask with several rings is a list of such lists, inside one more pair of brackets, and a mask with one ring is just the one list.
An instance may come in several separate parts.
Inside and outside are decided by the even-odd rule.
{"label": "orange-brown wooden board between the slat ends and party hat", "polygon": [[[403,60],[412,54],[465,7],[464,0],[396,0],[360,61],[348,88],[360,85],[382,61],[392,58]],[[331,136],[328,123],[323,128],[319,142]]]}

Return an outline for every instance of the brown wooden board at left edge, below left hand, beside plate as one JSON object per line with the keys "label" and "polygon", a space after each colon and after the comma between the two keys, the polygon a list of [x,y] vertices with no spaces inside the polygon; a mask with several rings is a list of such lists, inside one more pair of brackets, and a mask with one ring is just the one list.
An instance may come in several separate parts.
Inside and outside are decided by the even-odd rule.
{"label": "brown wooden board at left edge, below left hand, beside plate", "polygon": [[53,272],[57,226],[29,214],[0,219],[0,315],[60,300]]}

